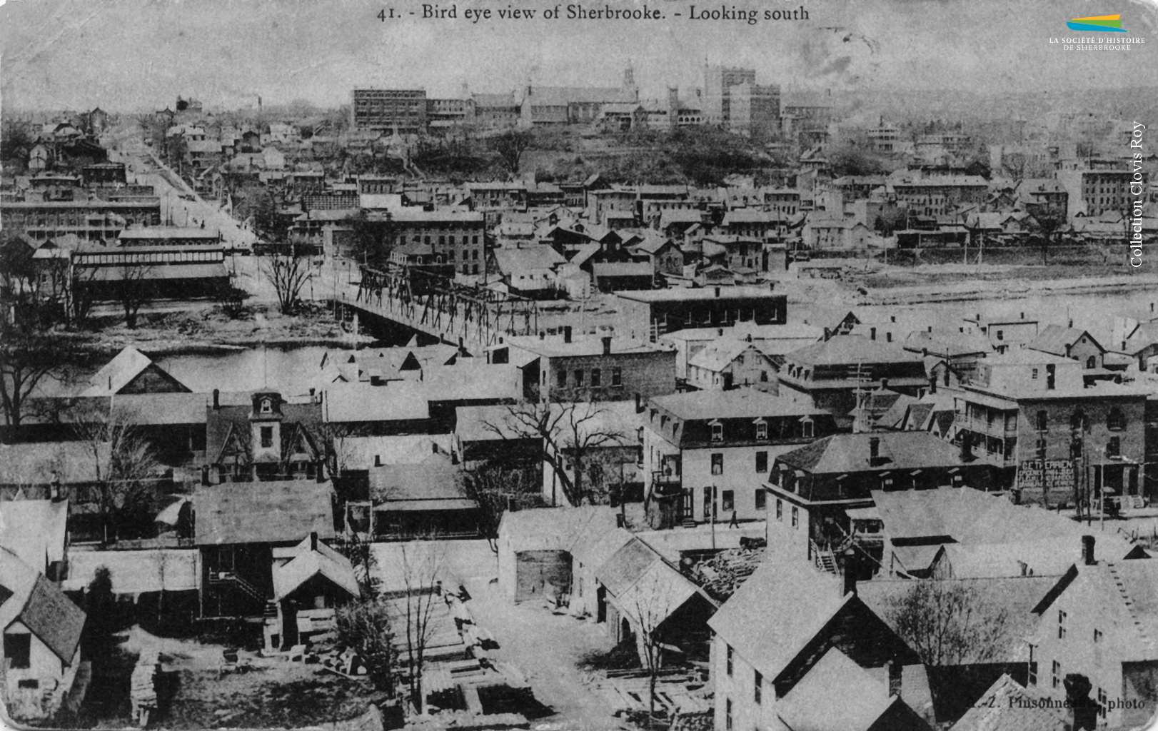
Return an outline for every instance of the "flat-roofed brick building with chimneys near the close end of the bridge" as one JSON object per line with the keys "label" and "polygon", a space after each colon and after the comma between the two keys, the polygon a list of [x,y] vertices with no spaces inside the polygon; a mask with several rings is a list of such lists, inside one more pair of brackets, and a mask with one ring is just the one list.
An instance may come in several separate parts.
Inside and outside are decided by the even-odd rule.
{"label": "flat-roofed brick building with chimneys near the close end of the bridge", "polygon": [[622,401],[675,390],[675,351],[646,341],[572,337],[572,326],[548,337],[513,336],[491,348],[492,364],[522,371],[523,397],[542,401]]}

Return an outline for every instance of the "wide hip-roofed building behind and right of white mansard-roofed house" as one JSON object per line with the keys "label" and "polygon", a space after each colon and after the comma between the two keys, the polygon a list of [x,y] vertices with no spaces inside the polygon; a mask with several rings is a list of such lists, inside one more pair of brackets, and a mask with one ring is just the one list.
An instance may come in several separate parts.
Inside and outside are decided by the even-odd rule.
{"label": "wide hip-roofed building behind and right of white mansard-roofed house", "polygon": [[779,375],[780,395],[808,402],[850,424],[860,394],[879,386],[919,395],[929,387],[925,365],[900,344],[844,335],[787,353]]}

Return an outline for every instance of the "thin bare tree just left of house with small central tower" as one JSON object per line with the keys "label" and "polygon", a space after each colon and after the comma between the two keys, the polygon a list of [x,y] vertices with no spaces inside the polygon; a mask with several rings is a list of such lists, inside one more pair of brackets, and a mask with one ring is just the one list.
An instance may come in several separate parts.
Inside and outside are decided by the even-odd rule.
{"label": "thin bare tree just left of house with small central tower", "polygon": [[91,459],[104,541],[110,533],[116,540],[124,516],[134,510],[155,514],[160,462],[131,411],[83,410],[72,415],[72,429]]}

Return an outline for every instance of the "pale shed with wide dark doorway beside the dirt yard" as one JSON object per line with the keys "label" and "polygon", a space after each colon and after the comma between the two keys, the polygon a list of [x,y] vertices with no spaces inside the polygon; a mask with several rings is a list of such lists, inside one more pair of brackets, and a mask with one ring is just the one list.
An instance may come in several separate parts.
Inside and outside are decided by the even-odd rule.
{"label": "pale shed with wide dark doorway beside the dirt yard", "polygon": [[496,541],[499,590],[512,604],[570,593],[577,541],[615,527],[615,511],[606,505],[506,511]]}

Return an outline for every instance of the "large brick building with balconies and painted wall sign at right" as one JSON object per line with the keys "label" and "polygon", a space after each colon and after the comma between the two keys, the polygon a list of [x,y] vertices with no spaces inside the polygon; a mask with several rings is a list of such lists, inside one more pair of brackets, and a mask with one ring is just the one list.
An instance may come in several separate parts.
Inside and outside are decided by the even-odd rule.
{"label": "large brick building with balconies and painted wall sign at right", "polygon": [[1001,487],[1047,505],[1143,495],[1146,392],[1090,382],[1085,363],[1019,349],[977,363],[954,394],[955,440]]}

